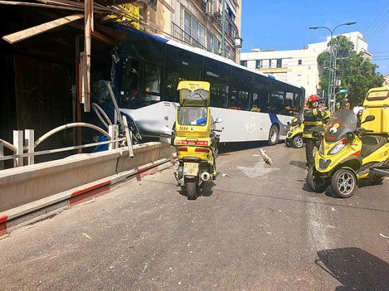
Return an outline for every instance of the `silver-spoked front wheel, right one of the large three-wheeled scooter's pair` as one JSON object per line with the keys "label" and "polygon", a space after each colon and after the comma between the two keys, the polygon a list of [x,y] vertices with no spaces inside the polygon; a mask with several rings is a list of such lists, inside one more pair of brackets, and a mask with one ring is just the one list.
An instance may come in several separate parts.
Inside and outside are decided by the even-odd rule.
{"label": "silver-spoked front wheel, right one of the large three-wheeled scooter's pair", "polygon": [[336,197],[349,198],[358,189],[358,179],[351,170],[340,168],[333,174],[331,186]]}

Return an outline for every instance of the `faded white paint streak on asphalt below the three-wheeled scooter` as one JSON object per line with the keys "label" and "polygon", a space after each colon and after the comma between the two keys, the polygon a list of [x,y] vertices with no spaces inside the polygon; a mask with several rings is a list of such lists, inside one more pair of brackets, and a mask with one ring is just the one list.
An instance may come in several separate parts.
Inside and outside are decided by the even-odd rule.
{"label": "faded white paint streak on asphalt below the three-wheeled scooter", "polygon": [[326,233],[325,212],[319,198],[312,198],[308,204],[308,240],[314,251],[329,249],[331,242]]}

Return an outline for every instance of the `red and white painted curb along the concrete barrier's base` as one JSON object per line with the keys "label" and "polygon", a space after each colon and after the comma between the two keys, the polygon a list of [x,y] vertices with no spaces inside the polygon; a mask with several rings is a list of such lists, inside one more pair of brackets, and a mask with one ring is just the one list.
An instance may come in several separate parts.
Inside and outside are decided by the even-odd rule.
{"label": "red and white painted curb along the concrete barrier's base", "polygon": [[147,175],[154,175],[161,170],[165,170],[172,166],[174,166],[172,159],[160,159],[133,170],[115,174],[70,189],[69,191],[57,193],[41,200],[3,211],[0,213],[0,240],[2,237],[5,238],[8,233],[15,229],[56,215],[70,206],[75,206],[85,201],[92,200],[94,197],[110,193],[110,189],[113,188],[113,185],[115,184],[131,181],[131,179],[135,178],[140,181]]}

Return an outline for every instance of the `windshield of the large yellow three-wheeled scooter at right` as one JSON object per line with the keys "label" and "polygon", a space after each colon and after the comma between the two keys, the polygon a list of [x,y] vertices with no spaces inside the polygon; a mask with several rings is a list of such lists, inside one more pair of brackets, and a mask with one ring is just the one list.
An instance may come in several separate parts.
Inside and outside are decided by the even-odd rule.
{"label": "windshield of the large yellow three-wheeled scooter at right", "polygon": [[341,109],[335,112],[324,125],[324,139],[331,143],[345,138],[347,133],[355,132],[356,122],[356,114],[351,110]]}

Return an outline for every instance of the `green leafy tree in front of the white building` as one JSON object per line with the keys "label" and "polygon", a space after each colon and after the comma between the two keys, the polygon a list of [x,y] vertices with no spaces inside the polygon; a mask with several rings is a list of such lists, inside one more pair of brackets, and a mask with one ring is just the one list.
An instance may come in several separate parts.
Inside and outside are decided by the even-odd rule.
{"label": "green leafy tree in front of the white building", "polygon": [[[376,72],[378,66],[365,58],[363,52],[356,53],[354,44],[344,35],[333,39],[333,49],[336,50],[336,78],[342,81],[343,88],[349,87],[347,98],[351,106],[362,105],[367,91],[374,87],[381,87],[383,84],[383,76]],[[319,85],[327,90],[329,52],[320,53],[317,63],[320,68]],[[337,100],[345,103],[345,96],[343,94],[338,94],[338,96]]]}

